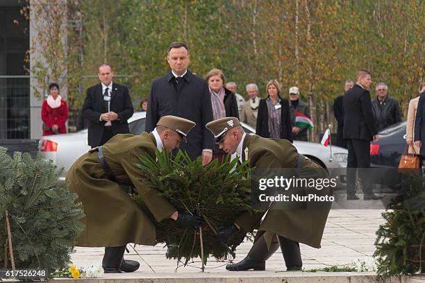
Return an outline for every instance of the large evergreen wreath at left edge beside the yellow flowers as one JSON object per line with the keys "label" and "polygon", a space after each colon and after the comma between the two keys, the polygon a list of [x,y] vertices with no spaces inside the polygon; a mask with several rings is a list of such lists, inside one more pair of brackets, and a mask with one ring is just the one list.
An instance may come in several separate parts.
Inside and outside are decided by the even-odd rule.
{"label": "large evergreen wreath at left edge beside the yellow flowers", "polygon": [[[13,158],[0,147],[0,268],[6,264],[8,211],[16,268],[67,268],[74,239],[83,230],[81,203],[58,180],[55,164],[28,153]],[[10,257],[7,259],[10,268]]]}

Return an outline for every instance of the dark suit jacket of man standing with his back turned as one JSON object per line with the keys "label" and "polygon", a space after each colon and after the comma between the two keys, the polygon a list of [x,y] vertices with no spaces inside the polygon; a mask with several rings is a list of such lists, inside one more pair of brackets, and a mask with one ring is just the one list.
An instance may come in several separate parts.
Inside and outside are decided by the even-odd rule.
{"label": "dark suit jacket of man standing with his back turned", "polygon": [[344,94],[343,105],[344,139],[372,141],[378,132],[369,91],[360,85],[354,85]]}

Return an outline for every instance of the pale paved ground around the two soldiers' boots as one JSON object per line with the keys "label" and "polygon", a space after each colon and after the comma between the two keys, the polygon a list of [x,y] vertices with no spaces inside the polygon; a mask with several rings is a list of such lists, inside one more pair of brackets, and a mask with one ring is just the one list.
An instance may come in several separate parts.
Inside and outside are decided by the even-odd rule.
{"label": "pale paved ground around the two soldiers' boots", "polygon": [[[312,268],[324,268],[326,266],[341,266],[351,264],[359,257],[370,257],[374,253],[375,232],[378,226],[383,223],[381,216],[382,210],[378,209],[341,209],[331,210],[328,222],[324,230],[322,248],[316,249],[301,244],[301,253],[303,258],[303,268],[310,270]],[[244,258],[252,243],[244,242],[236,251],[236,259],[239,261]],[[165,258],[166,248],[163,246],[136,246],[135,250],[142,255],[142,259],[136,252],[130,248],[130,254],[126,254],[126,259],[135,259],[140,261],[141,268],[135,273],[123,273],[120,278],[153,278],[163,277],[165,274],[172,274],[176,270],[176,260]],[[76,266],[90,266],[101,264],[103,257],[103,248],[76,248],[72,255],[72,262]],[[218,262],[210,258],[206,265],[206,273],[224,273],[223,276],[234,277],[235,273],[226,272],[224,266],[226,262]],[[189,266],[178,268],[178,274],[188,275],[188,273],[198,273],[200,271],[201,261],[195,259]],[[273,273],[278,276],[284,276],[285,264],[280,250],[276,252],[267,261],[267,272],[255,272],[263,274],[259,276],[269,277]],[[251,273],[253,275],[254,272]],[[306,275],[306,273],[302,273]],[[192,274],[194,277],[198,275]],[[213,275],[213,274],[211,274]],[[218,275],[218,274],[216,274]],[[104,278],[107,276],[103,276]],[[108,275],[115,277],[115,275]]]}

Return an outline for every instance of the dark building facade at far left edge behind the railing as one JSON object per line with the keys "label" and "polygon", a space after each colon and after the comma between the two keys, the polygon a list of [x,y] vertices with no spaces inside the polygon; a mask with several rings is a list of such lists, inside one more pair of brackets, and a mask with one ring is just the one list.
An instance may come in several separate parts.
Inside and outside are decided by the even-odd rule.
{"label": "dark building facade at far left edge behind the railing", "polygon": [[0,1],[0,139],[28,139],[30,132],[28,19],[17,0]]}

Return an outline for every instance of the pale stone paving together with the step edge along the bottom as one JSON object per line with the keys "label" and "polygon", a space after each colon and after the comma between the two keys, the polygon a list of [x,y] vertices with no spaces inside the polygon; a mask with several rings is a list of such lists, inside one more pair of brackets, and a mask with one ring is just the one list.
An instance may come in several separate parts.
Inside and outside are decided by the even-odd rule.
{"label": "pale stone paving together with the step edge along the bottom", "polygon": [[[324,230],[322,248],[316,249],[301,244],[304,272],[286,272],[280,250],[267,261],[266,271],[225,271],[228,261],[208,259],[205,272],[201,272],[201,261],[194,259],[188,266],[176,270],[177,261],[165,258],[166,248],[157,246],[128,246],[130,253],[126,259],[140,261],[140,270],[134,273],[108,274],[99,279],[84,279],[86,283],[425,283],[425,277],[392,277],[381,280],[375,273],[325,273],[306,272],[326,266],[351,264],[361,257],[370,257],[374,253],[375,232],[382,224],[382,210],[331,210]],[[245,241],[236,250],[234,262],[247,255],[252,243]],[[77,247],[72,255],[76,266],[101,264],[103,248]],[[141,257],[136,253],[141,255]],[[74,283],[77,280],[65,280]]]}

